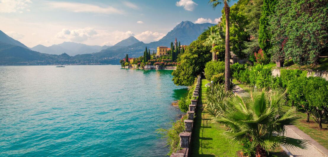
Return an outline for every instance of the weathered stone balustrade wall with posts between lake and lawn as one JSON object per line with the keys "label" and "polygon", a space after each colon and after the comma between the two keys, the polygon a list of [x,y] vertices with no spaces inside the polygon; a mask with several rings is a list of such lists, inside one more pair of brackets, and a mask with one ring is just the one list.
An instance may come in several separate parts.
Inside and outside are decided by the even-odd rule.
{"label": "weathered stone balustrade wall with posts between lake and lawn", "polygon": [[193,132],[194,128],[194,117],[195,117],[195,111],[196,111],[196,105],[198,102],[198,99],[196,99],[199,96],[199,89],[200,89],[200,79],[201,77],[197,77],[197,84],[196,88],[193,93],[194,99],[191,100],[191,104],[189,105],[189,111],[187,112],[188,118],[184,120],[185,123],[185,130],[183,132],[180,132],[180,143],[179,143],[179,149],[177,152],[174,152],[171,154],[171,157],[188,157],[190,156],[190,145],[191,145],[191,134]]}

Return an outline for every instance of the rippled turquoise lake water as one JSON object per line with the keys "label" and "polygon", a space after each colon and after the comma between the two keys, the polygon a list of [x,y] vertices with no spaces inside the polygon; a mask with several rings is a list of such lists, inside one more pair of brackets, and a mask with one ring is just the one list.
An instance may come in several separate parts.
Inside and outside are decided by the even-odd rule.
{"label": "rippled turquoise lake water", "polygon": [[[0,156],[164,156],[172,70],[0,66]],[[159,126],[158,126],[159,125]]]}

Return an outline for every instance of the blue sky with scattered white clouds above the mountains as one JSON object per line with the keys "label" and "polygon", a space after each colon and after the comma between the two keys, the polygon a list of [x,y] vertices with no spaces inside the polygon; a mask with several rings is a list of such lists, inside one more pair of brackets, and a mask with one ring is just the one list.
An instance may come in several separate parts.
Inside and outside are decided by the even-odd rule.
{"label": "blue sky with scattered white clouds above the mountains", "polygon": [[182,21],[217,23],[222,8],[207,0],[0,0],[0,30],[29,47],[113,45],[129,36],[150,43]]}

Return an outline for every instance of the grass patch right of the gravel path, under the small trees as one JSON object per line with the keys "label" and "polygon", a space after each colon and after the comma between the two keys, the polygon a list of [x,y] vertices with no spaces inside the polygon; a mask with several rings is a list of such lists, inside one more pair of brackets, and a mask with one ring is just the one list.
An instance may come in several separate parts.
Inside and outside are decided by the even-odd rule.
{"label": "grass patch right of the gravel path, under the small trees", "polygon": [[[291,107],[284,106],[284,109],[287,111]],[[328,122],[323,119],[322,130],[319,129],[319,124],[310,117],[310,122],[306,122],[306,114],[301,112],[296,112],[297,116],[300,117],[295,126],[301,131],[308,134],[311,138],[320,143],[323,147],[328,148]]]}

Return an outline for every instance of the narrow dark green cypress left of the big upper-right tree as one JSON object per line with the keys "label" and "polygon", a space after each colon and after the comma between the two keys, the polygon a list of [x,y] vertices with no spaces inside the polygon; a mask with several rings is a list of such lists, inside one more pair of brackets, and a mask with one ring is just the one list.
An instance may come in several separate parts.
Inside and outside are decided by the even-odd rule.
{"label": "narrow dark green cypress left of the big upper-right tree", "polygon": [[259,20],[260,26],[258,30],[258,44],[260,48],[263,50],[264,55],[267,56],[268,50],[271,47],[271,37],[270,30],[268,30],[269,26],[269,16],[274,13],[275,6],[277,4],[277,0],[263,0],[262,16]]}

